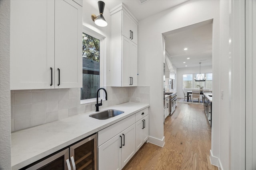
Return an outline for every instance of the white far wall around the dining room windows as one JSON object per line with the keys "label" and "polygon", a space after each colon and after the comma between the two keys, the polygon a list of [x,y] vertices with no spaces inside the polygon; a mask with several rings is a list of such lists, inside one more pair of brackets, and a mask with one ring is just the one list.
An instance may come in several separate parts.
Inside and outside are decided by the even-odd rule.
{"label": "white far wall around the dining room windows", "polygon": [[[177,96],[178,98],[184,98],[182,91],[183,88],[183,74],[196,74],[199,72],[199,67],[186,67],[177,68],[176,82],[177,82]],[[212,66],[201,66],[201,73],[211,73]]]}

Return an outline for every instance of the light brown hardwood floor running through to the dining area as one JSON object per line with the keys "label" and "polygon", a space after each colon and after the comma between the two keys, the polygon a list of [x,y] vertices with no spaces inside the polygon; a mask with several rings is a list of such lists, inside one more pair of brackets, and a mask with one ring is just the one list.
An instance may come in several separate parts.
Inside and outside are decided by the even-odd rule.
{"label": "light brown hardwood floor running through to the dining area", "polygon": [[178,103],[164,124],[164,147],[145,143],[122,170],[218,170],[203,105]]}

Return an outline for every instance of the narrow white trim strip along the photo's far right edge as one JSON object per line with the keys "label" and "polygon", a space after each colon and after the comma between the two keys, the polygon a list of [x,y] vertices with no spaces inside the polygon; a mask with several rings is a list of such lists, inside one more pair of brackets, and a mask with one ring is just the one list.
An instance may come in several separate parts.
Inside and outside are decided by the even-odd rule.
{"label": "narrow white trim strip along the photo's far right edge", "polygon": [[246,1],[245,2],[245,12],[246,12],[246,170],[256,169],[256,148],[255,141],[256,135],[254,133],[255,117],[256,114],[256,90],[254,89],[256,83],[256,2]]}

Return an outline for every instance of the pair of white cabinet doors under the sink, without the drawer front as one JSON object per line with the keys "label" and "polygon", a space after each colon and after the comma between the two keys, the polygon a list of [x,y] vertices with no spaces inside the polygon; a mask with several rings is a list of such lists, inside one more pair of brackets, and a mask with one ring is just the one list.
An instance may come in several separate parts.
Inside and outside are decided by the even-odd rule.
{"label": "pair of white cabinet doors under the sink, without the drawer front", "polygon": [[135,124],[133,124],[98,147],[99,170],[121,170],[135,152]]}

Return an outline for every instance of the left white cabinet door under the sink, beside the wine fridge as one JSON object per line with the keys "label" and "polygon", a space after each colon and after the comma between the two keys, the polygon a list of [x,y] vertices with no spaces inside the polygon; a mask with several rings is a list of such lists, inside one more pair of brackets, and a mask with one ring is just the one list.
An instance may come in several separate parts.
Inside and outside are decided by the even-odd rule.
{"label": "left white cabinet door under the sink, beside the wine fridge", "polygon": [[121,170],[121,137],[116,135],[98,147],[99,170]]}

